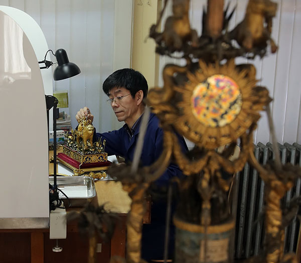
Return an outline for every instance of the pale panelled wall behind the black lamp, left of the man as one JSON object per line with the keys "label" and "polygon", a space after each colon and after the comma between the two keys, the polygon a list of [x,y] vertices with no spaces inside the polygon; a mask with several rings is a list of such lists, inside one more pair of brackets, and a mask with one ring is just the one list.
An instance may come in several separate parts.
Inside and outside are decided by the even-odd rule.
{"label": "pale panelled wall behind the black lamp, left of the man", "polygon": [[64,110],[71,115],[72,126],[77,124],[78,109],[87,105],[98,131],[120,127],[105,103],[102,83],[114,70],[130,66],[132,0],[0,0],[0,5],[32,16],[49,48],[65,49],[81,69],[73,78],[53,82],[54,91],[69,92],[69,108]]}

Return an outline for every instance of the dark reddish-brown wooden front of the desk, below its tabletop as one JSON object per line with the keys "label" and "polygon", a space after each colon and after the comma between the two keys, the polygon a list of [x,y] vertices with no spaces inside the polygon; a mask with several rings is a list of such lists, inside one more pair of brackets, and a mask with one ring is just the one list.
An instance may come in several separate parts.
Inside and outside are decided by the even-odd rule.
{"label": "dark reddish-brown wooden front of the desk, below its tabletop", "polygon": [[[114,234],[109,243],[100,238],[97,243],[101,251],[96,262],[109,262],[113,255],[125,256],[126,215],[120,215]],[[78,233],[77,224],[67,225],[67,238],[59,239],[62,252],[53,252],[55,239],[49,239],[47,229],[0,229],[1,263],[85,263],[88,259],[88,237]]]}

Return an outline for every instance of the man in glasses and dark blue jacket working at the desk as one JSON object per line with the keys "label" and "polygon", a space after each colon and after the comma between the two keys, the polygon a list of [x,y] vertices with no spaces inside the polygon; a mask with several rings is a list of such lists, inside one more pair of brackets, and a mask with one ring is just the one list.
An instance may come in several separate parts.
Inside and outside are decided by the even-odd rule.
{"label": "man in glasses and dark blue jacket working at the desk", "polygon": [[[125,124],[118,130],[110,133],[97,133],[95,140],[102,137],[106,140],[105,151],[108,155],[122,156],[125,161],[132,161],[135,146],[138,139],[141,116],[145,109],[143,98],[146,98],[148,86],[141,73],[133,69],[120,69],[112,73],[103,83],[103,91],[108,95],[108,102],[118,119]],[[80,120],[87,116],[93,121],[94,116],[89,108],[84,107],[76,114]],[[182,137],[180,142],[183,151],[187,146]],[[141,164],[148,166],[153,164],[163,151],[163,130],[160,128],[159,119],[153,113],[150,114],[144,137],[141,153]],[[169,179],[183,177],[178,166],[170,164],[165,173],[155,182],[157,186],[167,186]],[[143,225],[142,230],[142,258],[145,260],[163,259],[164,234],[166,218],[166,200],[153,200],[152,223]],[[174,228],[170,234],[170,256],[174,248]]]}

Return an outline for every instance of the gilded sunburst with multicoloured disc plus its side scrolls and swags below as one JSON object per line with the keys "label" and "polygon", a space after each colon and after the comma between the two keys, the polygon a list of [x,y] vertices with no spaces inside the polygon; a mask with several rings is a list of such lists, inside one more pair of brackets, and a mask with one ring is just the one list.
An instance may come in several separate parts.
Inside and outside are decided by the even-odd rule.
{"label": "gilded sunburst with multicoloured disc plus its side scrolls and swags below", "polygon": [[[149,91],[148,104],[164,123],[165,131],[173,127],[199,147],[198,158],[189,159],[177,136],[172,136],[176,163],[185,174],[199,173],[209,164],[212,171],[220,167],[228,173],[240,171],[252,155],[252,134],[259,111],[270,101],[268,91],[255,86],[253,65],[235,65],[234,60],[224,65],[198,64],[194,71],[189,66],[167,65],[164,87]],[[240,154],[232,162],[229,153],[238,139]],[[225,145],[230,146],[222,153],[215,151]]]}

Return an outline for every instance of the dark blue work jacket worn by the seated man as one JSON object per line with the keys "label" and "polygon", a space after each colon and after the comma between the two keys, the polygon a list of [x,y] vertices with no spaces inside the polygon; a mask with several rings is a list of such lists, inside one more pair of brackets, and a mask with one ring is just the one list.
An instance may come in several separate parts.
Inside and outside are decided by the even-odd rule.
{"label": "dark blue work jacket worn by the seated man", "polygon": [[[108,155],[122,156],[125,161],[132,161],[138,140],[140,123],[134,129],[132,138],[128,135],[126,127],[123,126],[118,130],[110,133],[95,133],[94,140],[106,140],[105,152]],[[188,148],[183,137],[179,136],[179,143],[183,152]],[[160,127],[159,119],[154,113],[150,113],[148,125],[144,137],[144,143],[140,158],[140,164],[149,166],[153,164],[163,151],[163,129]],[[171,163],[165,173],[155,182],[157,186],[167,186],[169,179],[173,177],[184,178],[180,168]],[[172,213],[175,210],[175,203],[172,205]],[[164,256],[164,239],[165,224],[167,211],[167,197],[152,201],[151,223],[144,224],[142,228],[141,256],[149,261],[151,259],[163,259]],[[170,224],[169,235],[169,256],[173,255],[175,242],[175,227]]]}

